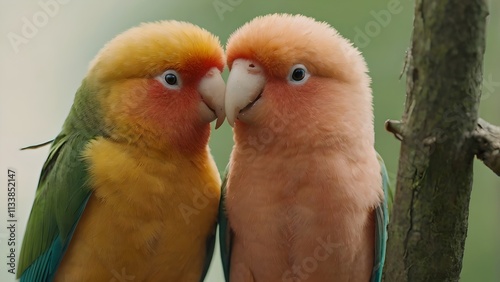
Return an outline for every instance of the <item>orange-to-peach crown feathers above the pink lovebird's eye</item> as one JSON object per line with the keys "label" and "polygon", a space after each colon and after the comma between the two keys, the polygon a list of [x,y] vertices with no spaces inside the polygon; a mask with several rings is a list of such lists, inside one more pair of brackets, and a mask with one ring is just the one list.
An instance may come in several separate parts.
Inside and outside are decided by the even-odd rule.
{"label": "orange-to-peach crown feathers above the pink lovebird's eye", "polygon": [[367,72],[363,57],[347,39],[327,23],[302,15],[257,17],[230,36],[226,52],[229,68],[235,59],[250,59],[279,78],[294,64],[343,81],[350,81],[354,70]]}

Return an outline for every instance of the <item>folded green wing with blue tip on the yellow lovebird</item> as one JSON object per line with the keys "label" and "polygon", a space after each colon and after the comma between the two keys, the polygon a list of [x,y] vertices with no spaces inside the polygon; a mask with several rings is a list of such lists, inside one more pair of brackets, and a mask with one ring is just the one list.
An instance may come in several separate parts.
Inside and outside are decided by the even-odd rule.
{"label": "folded green wing with blue tip on the yellow lovebird", "polygon": [[90,195],[81,157],[87,142],[78,135],[62,135],[52,145],[21,248],[17,271],[21,280],[45,281],[55,274]]}

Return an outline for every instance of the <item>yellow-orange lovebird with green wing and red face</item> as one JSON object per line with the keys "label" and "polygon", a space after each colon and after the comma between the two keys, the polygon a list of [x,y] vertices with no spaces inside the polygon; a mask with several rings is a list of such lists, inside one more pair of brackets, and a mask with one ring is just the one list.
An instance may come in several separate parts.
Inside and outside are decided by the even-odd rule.
{"label": "yellow-orange lovebird with green wing and red face", "polygon": [[178,21],[143,23],[99,51],[43,165],[21,281],[203,280],[224,65],[216,36]]}

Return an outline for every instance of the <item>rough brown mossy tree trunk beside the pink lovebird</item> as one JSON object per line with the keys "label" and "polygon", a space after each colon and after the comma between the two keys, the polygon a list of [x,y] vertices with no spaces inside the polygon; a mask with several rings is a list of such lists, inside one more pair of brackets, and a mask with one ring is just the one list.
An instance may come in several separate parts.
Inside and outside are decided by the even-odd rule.
{"label": "rough brown mossy tree trunk beside the pink lovebird", "polygon": [[[459,281],[472,188],[487,7],[416,0],[384,280]],[[398,136],[398,135],[396,135]]]}

